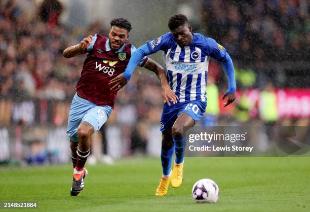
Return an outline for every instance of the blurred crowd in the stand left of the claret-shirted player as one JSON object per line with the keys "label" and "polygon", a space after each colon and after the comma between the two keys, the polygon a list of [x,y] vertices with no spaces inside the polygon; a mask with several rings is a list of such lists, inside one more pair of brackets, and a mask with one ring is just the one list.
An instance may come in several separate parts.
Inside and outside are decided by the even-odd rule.
{"label": "blurred crowd in the stand left of the claret-shirted player", "polygon": [[[45,8],[44,2],[40,8],[31,11],[34,14],[31,16],[15,1],[2,1],[1,4],[1,97],[64,99],[66,95],[72,95],[83,60],[62,57],[70,34],[58,24],[61,7],[53,11]],[[35,7],[30,5],[30,8]]]}

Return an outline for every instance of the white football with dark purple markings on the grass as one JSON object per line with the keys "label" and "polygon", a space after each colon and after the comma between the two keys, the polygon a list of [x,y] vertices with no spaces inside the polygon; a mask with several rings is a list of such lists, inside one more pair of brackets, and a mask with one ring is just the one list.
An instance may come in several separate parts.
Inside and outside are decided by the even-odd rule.
{"label": "white football with dark purple markings on the grass", "polygon": [[193,185],[191,194],[198,203],[215,203],[218,199],[218,192],[218,186],[214,181],[202,179]]}

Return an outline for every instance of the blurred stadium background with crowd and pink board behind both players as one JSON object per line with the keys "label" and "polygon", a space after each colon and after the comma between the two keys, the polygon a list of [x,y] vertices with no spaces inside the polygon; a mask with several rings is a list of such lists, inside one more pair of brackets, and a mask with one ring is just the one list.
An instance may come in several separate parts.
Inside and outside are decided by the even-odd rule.
{"label": "blurred stadium background with crowd and pink board behind both players", "polygon": [[[211,59],[208,107],[198,126],[308,126],[309,8],[306,0],[1,1],[0,163],[69,162],[67,117],[86,55],[66,59],[62,51],[89,34],[107,36],[109,21],[117,17],[132,23],[130,42],[136,47],[168,32],[169,18],[183,13],[193,32],[227,49],[237,100],[222,107],[227,80]],[[162,64],[161,54],[150,57]],[[159,156],[162,106],[159,80],[137,68],[108,122],[92,136],[88,163]]]}

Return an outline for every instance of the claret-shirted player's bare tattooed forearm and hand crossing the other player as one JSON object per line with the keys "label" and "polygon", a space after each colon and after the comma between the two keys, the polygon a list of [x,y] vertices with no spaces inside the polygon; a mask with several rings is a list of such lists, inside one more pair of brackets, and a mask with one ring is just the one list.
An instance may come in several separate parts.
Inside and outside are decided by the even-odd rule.
{"label": "claret-shirted player's bare tattooed forearm and hand crossing the other player", "polygon": [[161,81],[162,89],[163,89],[163,99],[164,99],[164,102],[166,102],[170,106],[170,102],[169,102],[169,99],[170,99],[173,104],[176,104],[177,103],[177,99],[179,99],[179,98],[170,89],[164,68],[159,63],[157,63],[156,61],[154,61],[154,60],[152,60],[150,58],[147,60],[147,62],[144,65],[144,67],[146,69],[149,69],[152,72],[154,72],[157,75],[158,79]]}

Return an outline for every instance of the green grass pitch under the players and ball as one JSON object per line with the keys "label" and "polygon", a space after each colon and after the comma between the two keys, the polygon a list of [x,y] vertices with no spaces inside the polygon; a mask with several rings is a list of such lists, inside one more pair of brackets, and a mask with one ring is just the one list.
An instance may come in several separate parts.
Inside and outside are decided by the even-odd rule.
{"label": "green grass pitch under the players and ball", "polygon": [[[58,212],[310,211],[309,165],[310,157],[187,157],[182,186],[170,186],[165,197],[154,196],[160,159],[87,166],[85,188],[76,197],[69,192],[70,165],[0,167],[0,201],[37,201],[39,208],[29,211]],[[192,199],[192,185],[203,178],[218,184],[217,203],[198,204]]]}

